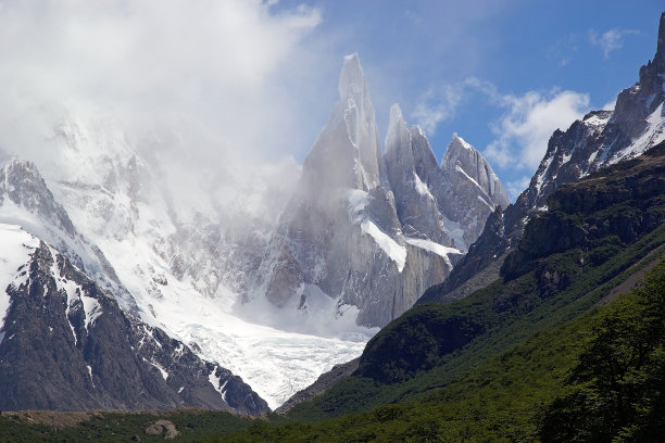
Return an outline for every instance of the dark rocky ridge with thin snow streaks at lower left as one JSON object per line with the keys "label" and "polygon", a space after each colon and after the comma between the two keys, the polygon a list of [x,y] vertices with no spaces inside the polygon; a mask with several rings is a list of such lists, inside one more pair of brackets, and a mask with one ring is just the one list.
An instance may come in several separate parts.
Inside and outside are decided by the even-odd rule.
{"label": "dark rocky ridge with thin snow streaks at lower left", "polygon": [[123,313],[112,294],[63,255],[21,232],[7,225],[1,232],[4,242],[32,238],[36,248],[5,289],[0,408],[268,410],[238,377]]}

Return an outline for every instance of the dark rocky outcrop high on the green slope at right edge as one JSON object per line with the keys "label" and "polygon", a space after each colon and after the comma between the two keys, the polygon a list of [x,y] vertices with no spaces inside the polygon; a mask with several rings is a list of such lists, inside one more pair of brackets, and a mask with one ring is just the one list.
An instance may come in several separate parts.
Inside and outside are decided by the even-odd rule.
{"label": "dark rocky outcrop high on the green slope at right edge", "polygon": [[[509,254],[501,274],[516,278],[535,261],[573,248],[582,251],[600,239],[630,244],[665,223],[665,141],[643,155],[613,165],[550,195],[549,211],[535,214],[518,248]],[[572,215],[602,214],[580,219]],[[611,251],[607,253],[612,253]],[[591,255],[589,260],[608,256]],[[548,275],[541,287],[560,284],[561,276]]]}

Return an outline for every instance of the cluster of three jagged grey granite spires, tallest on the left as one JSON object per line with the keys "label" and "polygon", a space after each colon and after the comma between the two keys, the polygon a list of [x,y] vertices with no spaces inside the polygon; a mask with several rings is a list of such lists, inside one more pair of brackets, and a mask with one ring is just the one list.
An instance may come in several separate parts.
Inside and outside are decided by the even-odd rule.
{"label": "cluster of three jagged grey granite spires, tallest on the left", "polygon": [[305,312],[332,301],[331,314],[351,309],[359,325],[384,326],[449,275],[481,220],[507,198],[487,162],[456,136],[440,168],[398,105],[381,155],[356,54],[344,59],[339,97],[249,299]]}

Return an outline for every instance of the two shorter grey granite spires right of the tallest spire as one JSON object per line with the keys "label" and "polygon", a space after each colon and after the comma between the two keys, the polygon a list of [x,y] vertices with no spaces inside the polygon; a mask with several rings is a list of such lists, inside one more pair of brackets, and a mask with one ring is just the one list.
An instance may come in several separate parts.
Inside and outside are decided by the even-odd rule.
{"label": "two shorter grey granite spires right of the tallest spire", "polygon": [[396,104],[384,154],[402,230],[466,252],[507,193],[489,163],[456,134],[437,165],[423,130],[411,130]]}

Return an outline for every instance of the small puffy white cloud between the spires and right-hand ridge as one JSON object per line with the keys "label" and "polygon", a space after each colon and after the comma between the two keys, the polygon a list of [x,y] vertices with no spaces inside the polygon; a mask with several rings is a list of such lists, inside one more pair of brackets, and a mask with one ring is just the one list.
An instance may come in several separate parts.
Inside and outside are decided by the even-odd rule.
{"label": "small puffy white cloud between the spires and right-hand ridge", "polygon": [[528,91],[520,97],[504,96],[506,113],[491,125],[497,138],[484,151],[501,168],[535,169],[552,132],[566,129],[589,110],[589,96],[575,91]]}

